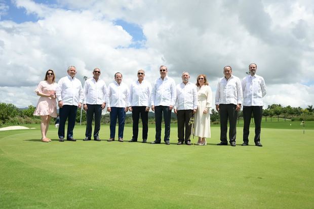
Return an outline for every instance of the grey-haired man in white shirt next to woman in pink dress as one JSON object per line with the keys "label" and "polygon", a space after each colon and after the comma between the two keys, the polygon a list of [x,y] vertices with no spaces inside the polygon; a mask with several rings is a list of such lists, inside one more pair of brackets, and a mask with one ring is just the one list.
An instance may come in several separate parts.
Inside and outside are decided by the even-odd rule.
{"label": "grey-haired man in white shirt next to woman in pink dress", "polygon": [[77,107],[81,108],[82,102],[84,100],[84,93],[82,83],[79,79],[75,78],[76,68],[74,66],[69,66],[67,68],[68,75],[62,77],[58,81],[58,86],[56,88],[56,96],[58,99],[60,124],[59,124],[59,142],[64,141],[64,127],[66,119],[68,119],[67,124],[67,141],[76,141],[73,138],[73,129],[75,126],[75,118]]}

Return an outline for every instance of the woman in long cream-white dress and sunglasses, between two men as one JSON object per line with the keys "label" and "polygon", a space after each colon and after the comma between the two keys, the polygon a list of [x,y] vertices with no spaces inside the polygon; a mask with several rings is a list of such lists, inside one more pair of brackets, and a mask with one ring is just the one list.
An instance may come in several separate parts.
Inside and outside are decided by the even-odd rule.
{"label": "woman in long cream-white dress and sunglasses, between two men", "polygon": [[199,137],[198,145],[206,145],[206,138],[210,138],[210,114],[212,90],[206,75],[200,74],[197,78],[199,106],[195,113],[195,136]]}

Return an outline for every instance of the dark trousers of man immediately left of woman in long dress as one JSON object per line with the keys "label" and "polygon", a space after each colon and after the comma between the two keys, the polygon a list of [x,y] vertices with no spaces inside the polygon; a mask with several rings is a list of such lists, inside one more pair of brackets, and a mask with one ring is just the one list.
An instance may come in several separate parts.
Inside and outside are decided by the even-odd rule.
{"label": "dark trousers of man immediately left of woman in long dress", "polygon": [[[190,141],[191,127],[192,124],[188,124],[193,115],[193,110],[178,110],[177,120],[178,120],[178,141],[187,142]],[[185,128],[185,138],[184,138],[184,128]]]}

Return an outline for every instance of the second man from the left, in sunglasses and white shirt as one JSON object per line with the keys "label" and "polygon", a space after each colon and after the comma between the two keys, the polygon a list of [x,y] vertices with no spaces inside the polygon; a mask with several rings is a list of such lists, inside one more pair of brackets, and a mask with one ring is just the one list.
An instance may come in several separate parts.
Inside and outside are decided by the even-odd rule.
{"label": "second man from the left, in sunglasses and white shirt", "polygon": [[86,111],[86,132],[84,141],[89,141],[92,138],[92,122],[95,115],[94,140],[100,141],[100,121],[101,112],[106,107],[105,96],[107,92],[106,83],[100,79],[100,69],[93,70],[93,77],[85,81],[84,84],[84,110]]}

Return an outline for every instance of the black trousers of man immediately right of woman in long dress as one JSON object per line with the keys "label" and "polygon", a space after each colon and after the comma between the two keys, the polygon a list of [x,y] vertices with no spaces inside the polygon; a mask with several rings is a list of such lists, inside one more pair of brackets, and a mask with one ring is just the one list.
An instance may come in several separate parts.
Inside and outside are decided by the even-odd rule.
{"label": "black trousers of man immediately right of woman in long dress", "polygon": [[219,104],[220,113],[220,141],[227,143],[227,122],[229,119],[229,142],[234,142],[237,137],[238,111],[235,104]]}

